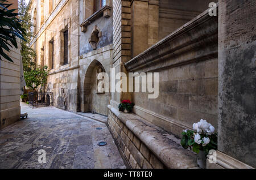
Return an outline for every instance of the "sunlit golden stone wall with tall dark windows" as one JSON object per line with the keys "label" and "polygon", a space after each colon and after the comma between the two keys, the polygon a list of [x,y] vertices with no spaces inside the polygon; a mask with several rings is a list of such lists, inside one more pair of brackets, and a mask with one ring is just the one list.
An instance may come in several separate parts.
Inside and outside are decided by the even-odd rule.
{"label": "sunlit golden stone wall with tall dark windows", "polygon": [[[46,89],[52,92],[52,105],[77,112],[78,104],[78,57],[79,57],[79,1],[55,1],[55,8],[48,11],[49,3],[43,3],[44,11],[39,11],[40,1],[31,1],[30,8],[38,9],[37,27],[31,46],[36,50],[36,63],[48,66],[49,75]],[[41,5],[41,4],[40,4]],[[44,12],[42,14],[41,12]],[[40,24],[40,16],[44,16]],[[68,64],[63,65],[63,31],[68,30]],[[53,68],[51,68],[51,47],[53,41]]]}

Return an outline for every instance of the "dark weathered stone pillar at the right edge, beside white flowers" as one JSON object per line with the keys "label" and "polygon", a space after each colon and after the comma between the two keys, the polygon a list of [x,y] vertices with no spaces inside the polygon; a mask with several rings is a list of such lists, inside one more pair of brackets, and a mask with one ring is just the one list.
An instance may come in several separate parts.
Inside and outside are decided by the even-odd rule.
{"label": "dark weathered stone pillar at the right edge, beside white flowers", "polygon": [[218,7],[217,161],[255,168],[256,1],[220,0]]}

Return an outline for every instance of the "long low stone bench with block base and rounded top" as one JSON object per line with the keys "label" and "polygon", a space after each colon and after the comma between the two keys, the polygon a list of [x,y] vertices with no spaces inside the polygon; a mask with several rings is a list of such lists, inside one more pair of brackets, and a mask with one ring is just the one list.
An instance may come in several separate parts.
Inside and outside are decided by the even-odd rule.
{"label": "long low stone bench with block base and rounded top", "polygon": [[108,105],[108,126],[121,156],[131,168],[197,168],[195,153],[180,139],[134,113]]}

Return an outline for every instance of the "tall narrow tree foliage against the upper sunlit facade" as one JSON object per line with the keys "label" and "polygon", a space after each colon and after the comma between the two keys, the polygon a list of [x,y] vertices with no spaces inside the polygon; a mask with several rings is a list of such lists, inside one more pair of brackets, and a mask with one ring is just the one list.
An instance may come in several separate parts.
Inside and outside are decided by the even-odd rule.
{"label": "tall narrow tree foliage against the upper sunlit facade", "polygon": [[21,20],[22,28],[27,29],[23,34],[24,40],[21,42],[20,54],[22,55],[22,63],[24,72],[31,71],[36,68],[36,52],[29,45],[33,33],[31,29],[31,15],[28,13],[28,6],[24,0],[19,0],[19,19]]}

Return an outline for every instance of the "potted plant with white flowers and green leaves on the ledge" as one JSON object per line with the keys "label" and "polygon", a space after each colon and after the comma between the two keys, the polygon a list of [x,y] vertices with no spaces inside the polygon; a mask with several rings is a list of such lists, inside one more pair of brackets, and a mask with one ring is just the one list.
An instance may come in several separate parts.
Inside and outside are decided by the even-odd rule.
{"label": "potted plant with white flowers and green leaves on the ledge", "polygon": [[214,127],[206,120],[201,119],[193,123],[193,130],[184,130],[181,134],[180,144],[183,148],[190,148],[197,153],[197,164],[200,168],[206,168],[206,156],[210,149],[217,149],[217,133]]}

